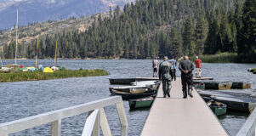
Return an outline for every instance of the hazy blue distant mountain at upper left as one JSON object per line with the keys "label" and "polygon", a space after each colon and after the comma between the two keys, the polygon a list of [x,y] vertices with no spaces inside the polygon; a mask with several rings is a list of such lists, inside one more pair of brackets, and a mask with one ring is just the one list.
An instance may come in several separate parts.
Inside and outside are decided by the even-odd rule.
{"label": "hazy blue distant mountain at upper left", "polygon": [[121,7],[134,0],[0,0],[0,30],[10,29],[16,22],[19,8],[19,26],[44,20],[60,20],[72,16],[87,16]]}

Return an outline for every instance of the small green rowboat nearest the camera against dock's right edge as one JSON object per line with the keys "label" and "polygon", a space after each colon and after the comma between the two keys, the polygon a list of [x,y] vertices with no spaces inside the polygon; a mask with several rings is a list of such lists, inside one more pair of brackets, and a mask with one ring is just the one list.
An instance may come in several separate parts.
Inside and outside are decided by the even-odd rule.
{"label": "small green rowboat nearest the camera against dock's right edge", "polygon": [[216,116],[225,115],[227,111],[227,105],[220,103],[218,101],[209,101],[208,106],[212,109]]}

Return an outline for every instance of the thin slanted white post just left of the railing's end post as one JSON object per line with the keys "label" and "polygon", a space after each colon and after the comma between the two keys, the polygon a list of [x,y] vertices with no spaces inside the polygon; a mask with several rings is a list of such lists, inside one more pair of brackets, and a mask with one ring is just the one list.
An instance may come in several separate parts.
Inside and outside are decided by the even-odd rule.
{"label": "thin slanted white post just left of the railing's end post", "polygon": [[100,109],[100,127],[102,129],[102,133],[105,136],[111,136],[111,128],[109,123],[107,122],[104,108]]}

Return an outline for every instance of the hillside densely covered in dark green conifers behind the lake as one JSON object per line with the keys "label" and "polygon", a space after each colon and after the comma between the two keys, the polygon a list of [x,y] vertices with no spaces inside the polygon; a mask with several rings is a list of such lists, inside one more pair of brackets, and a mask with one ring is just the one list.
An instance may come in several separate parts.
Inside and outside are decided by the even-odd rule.
{"label": "hillside densely covered in dark green conifers behind the lake", "polygon": [[[243,6],[245,5],[245,6]],[[256,0],[140,0],[110,9],[110,17],[94,18],[88,31],[61,31],[40,39],[39,58],[151,59],[238,53],[241,61],[256,60]],[[11,42],[10,45],[13,45]],[[14,58],[5,46],[5,58]],[[36,42],[20,57],[33,58]],[[246,58],[245,58],[246,57]]]}

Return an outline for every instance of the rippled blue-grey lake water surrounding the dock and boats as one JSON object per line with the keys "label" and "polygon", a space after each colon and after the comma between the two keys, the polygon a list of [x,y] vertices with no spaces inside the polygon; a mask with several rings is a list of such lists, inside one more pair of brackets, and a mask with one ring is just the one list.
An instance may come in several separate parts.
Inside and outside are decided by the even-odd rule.
{"label": "rippled blue-grey lake water surrounding the dock and boats", "polygon": [[[14,63],[8,60],[9,64]],[[20,65],[34,65],[34,60],[18,60]],[[53,60],[39,60],[38,64],[53,65]],[[0,83],[0,123],[34,116],[48,111],[79,105],[96,99],[110,97],[108,78],[111,77],[151,77],[151,60],[59,60],[60,65],[69,69],[105,69],[111,73],[106,77],[66,78],[36,82]],[[256,90],[256,76],[247,72],[247,68],[256,65],[247,64],[203,64],[203,76],[214,77],[218,81],[253,82],[253,94]],[[180,75],[178,71],[178,75]],[[139,135],[149,111],[129,111],[128,101],[124,101],[128,117],[128,135]],[[113,135],[120,135],[120,122],[115,106],[105,108]],[[62,120],[62,135],[81,135],[87,114]],[[247,114],[229,113],[219,121],[230,135],[235,135],[246,121]],[[13,135],[50,135],[49,123],[28,129]]]}

